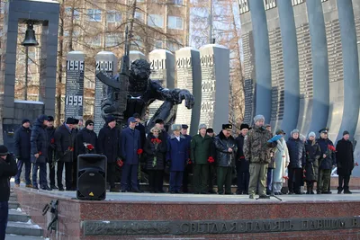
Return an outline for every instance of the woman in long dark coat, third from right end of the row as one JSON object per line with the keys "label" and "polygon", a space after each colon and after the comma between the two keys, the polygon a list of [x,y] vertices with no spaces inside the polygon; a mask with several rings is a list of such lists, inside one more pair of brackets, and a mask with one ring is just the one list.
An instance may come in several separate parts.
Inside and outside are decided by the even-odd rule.
{"label": "woman in long dark coat, third from right end of the row", "polygon": [[319,158],[321,150],[318,142],[315,140],[315,133],[309,133],[309,138],[305,142],[306,164],[305,164],[305,182],[306,194],[314,194],[314,182],[318,182]]}

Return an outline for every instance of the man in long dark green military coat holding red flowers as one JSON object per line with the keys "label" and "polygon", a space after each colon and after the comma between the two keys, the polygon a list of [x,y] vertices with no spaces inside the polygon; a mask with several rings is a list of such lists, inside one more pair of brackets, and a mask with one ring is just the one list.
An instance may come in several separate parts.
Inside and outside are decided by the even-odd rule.
{"label": "man in long dark green military coat holding red flowers", "polygon": [[191,140],[190,159],[193,160],[193,192],[195,194],[206,194],[209,182],[209,164],[215,160],[211,156],[212,138],[206,134],[206,125],[199,125],[199,133]]}

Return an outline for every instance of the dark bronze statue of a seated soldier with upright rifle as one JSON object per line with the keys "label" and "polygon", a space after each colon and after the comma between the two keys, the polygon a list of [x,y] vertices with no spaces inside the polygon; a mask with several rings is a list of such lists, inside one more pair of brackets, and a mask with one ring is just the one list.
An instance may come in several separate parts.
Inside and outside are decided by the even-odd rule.
{"label": "dark bronze statue of a seated soldier with upright rifle", "polygon": [[[164,101],[148,120],[147,130],[155,125],[155,120],[162,119],[166,126],[174,123],[177,104],[185,100],[185,106],[193,108],[193,94],[185,89],[163,88],[157,81],[151,80],[151,64],[145,59],[137,59],[130,65],[129,45],[125,40],[125,54],[121,58],[120,74],[111,77],[103,72],[97,78],[108,86],[107,98],[102,103],[102,117],[113,116],[121,127],[127,125],[128,118],[139,113],[144,119],[148,106],[156,101]],[[160,61],[161,64],[166,61]],[[152,64],[157,65],[157,61]],[[129,66],[130,65],[130,66]],[[165,67],[165,66],[163,66]]]}

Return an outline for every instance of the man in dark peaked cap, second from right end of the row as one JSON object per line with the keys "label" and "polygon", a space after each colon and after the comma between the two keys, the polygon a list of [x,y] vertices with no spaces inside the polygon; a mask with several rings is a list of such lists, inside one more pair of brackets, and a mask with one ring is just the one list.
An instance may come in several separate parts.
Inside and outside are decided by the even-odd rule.
{"label": "man in dark peaked cap, second from right end of the row", "polygon": [[317,185],[318,194],[330,194],[329,184],[331,179],[331,170],[336,164],[335,147],[332,141],[328,138],[328,128],[320,129],[320,138],[318,143],[321,150],[319,159],[319,180]]}

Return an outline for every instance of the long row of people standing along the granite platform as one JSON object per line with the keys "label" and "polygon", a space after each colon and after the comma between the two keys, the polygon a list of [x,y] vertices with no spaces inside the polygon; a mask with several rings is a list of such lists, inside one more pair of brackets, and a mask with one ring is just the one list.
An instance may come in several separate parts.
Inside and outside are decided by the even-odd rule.
{"label": "long row of people standing along the granite platform", "polygon": [[[23,120],[14,135],[14,156],[17,159],[15,186],[25,165],[26,187],[42,190],[75,191],[76,159],[82,154],[101,154],[107,158],[110,191],[141,192],[139,167],[148,173],[149,190],[164,192],[164,176],[169,173],[169,192],[190,192],[188,182],[193,177],[193,193],[232,194],[233,175],[236,174],[237,194],[250,199],[269,198],[284,194],[283,183],[288,182],[289,194],[329,194],[331,170],[338,167],[338,193],[351,193],[349,179],[355,166],[349,133],[334,147],[328,138],[329,129],[320,129],[308,138],[293,129],[285,139],[284,130],[275,131],[262,115],[254,118],[254,126],[241,124],[237,138],[232,136],[230,124],[223,124],[218,135],[205,124],[199,125],[196,135],[187,134],[187,125],[174,124],[166,131],[163,120],[156,120],[147,133],[139,114],[128,120],[126,129],[116,128],[116,120],[108,117],[97,135],[94,121],[68,118],[57,129],[54,118],[40,115],[30,128],[30,120]],[[47,169],[49,164],[49,184]],[[65,168],[65,186],[63,172]],[[121,189],[115,187],[117,171],[121,168]],[[38,172],[40,179],[38,182]],[[192,172],[193,174],[189,174]],[[306,184],[305,184],[306,183]],[[302,187],[306,186],[306,192]]]}

